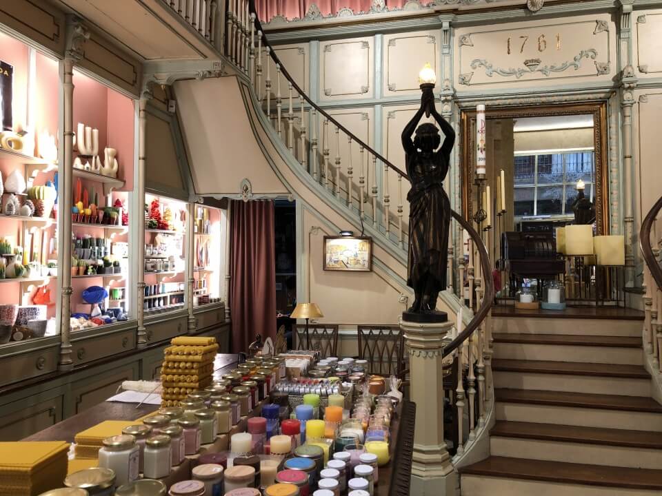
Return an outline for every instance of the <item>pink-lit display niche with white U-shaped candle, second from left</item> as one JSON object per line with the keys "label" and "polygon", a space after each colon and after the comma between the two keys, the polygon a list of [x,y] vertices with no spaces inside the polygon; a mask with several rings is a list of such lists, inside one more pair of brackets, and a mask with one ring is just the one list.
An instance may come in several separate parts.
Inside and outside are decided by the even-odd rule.
{"label": "pink-lit display niche with white U-shaped candle, second from left", "polygon": [[135,318],[129,218],[134,102],[74,70],[71,329]]}

